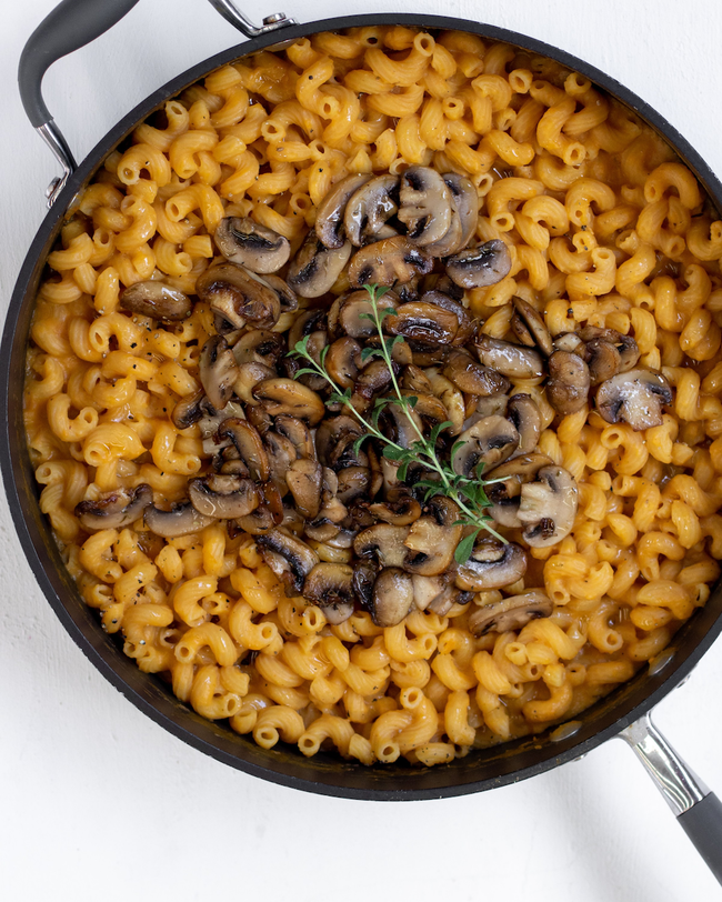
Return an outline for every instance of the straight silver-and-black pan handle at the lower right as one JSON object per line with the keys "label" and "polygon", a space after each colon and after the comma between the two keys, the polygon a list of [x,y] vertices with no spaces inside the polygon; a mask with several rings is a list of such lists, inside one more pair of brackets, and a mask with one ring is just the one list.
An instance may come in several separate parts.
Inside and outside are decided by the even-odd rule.
{"label": "straight silver-and-black pan handle at the lower right", "polygon": [[650,714],[620,733],[640,759],[680,825],[722,883],[722,802],[674,751]]}

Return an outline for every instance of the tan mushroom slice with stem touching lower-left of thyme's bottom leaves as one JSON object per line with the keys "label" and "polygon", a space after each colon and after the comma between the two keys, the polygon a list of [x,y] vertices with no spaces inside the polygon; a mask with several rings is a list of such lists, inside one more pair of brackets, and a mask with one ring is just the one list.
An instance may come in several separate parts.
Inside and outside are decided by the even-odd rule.
{"label": "tan mushroom slice with stem touching lower-left of thyme's bottom leaves", "polygon": [[429,512],[411,524],[404,545],[409,550],[403,569],[421,577],[435,577],[451,565],[461,540],[459,505],[445,495],[432,498]]}

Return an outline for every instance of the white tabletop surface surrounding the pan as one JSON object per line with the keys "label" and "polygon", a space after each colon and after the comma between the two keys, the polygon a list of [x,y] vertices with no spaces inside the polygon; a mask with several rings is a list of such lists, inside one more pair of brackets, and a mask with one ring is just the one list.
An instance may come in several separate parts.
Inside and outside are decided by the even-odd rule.
{"label": "white tabletop surface surrounding the pan", "polygon": [[[54,2],[0,0],[3,311],[44,216],[44,188],[57,174],[16,89],[20,50]],[[534,36],[628,84],[722,173],[722,6],[714,0],[367,0],[358,7],[350,0],[283,0],[283,8],[300,21],[393,9],[483,17]],[[255,9],[260,19],[277,7]],[[143,97],[238,40],[203,0],[140,0],[112,32],[52,68],[46,98],[80,159]],[[4,899],[722,898],[619,741],[514,786],[403,804],[282,789],[187,748],[112,689],[66,635],[33,582],[4,499],[0,503]],[[656,715],[718,791],[720,686],[718,642]]]}

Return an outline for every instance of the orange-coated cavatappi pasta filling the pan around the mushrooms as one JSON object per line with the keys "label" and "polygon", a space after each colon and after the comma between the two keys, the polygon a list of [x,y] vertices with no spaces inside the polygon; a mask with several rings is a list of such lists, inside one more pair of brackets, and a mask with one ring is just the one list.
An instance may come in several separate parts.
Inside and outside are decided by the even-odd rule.
{"label": "orange-coated cavatappi pasta filling the pan around the mushrooms", "polygon": [[[578,491],[573,522],[541,545],[499,527],[523,548],[523,575],[455,589],[442,603],[417,600],[400,622],[382,625],[359,604],[341,619],[289,595],[261,541],[263,524],[249,532],[188,508],[191,528],[162,535],[149,511],[160,523],[200,484],[193,480],[208,484],[219,448],[233,444],[219,442],[218,419],[209,429],[173,417],[207,389],[203,349],[220,347],[199,285],[224,264],[214,240],[222,222],[252,220],[295,257],[340,182],[355,176],[349,183],[362,187],[414,167],[471,183],[479,213],[468,243],[498,242],[508,257],[503,277],[455,293],[454,322],[461,305],[482,345],[529,345],[535,313],[553,349],[580,368],[588,365],[580,342],[606,341],[604,353],[622,358],[633,345],[632,365],[663,391],[656,420],[634,425],[610,420],[589,384],[581,404],[560,412],[565,401],[544,381],[551,362],[549,373],[507,377],[504,403],[523,395],[539,414],[531,453]],[[48,258],[53,272],[38,295],[26,387],[40,508],[81,595],[126,654],[198,713],[227,719],[265,749],[282,741],[304,755],[334,748],[363,764],[403,756],[433,765],[544,730],[658,655],[719,577],[721,257],[722,222],[669,147],[548,59],[463,32],[401,27],[317,34],[243,58],[167,102],[108,157]],[[450,285],[438,258],[433,267],[397,287],[402,300]],[[353,289],[350,271],[353,260],[329,290],[299,290],[295,304],[281,292],[267,322],[222,323],[237,343],[259,328],[271,334],[265,357],[253,355],[252,339],[237,357],[250,369],[230,394],[221,390],[233,405],[225,417],[263,435],[273,412],[253,388],[293,375],[273,341],[288,349],[295,328],[320,351],[333,302]],[[278,275],[268,279],[278,291]],[[146,287],[133,305],[126,292],[148,281],[156,294]],[[174,318],[152,315],[161,295],[176,304]],[[474,413],[489,414],[489,398],[450,378],[451,340],[407,347],[407,369],[453,421],[450,435]],[[303,435],[312,435],[309,425],[307,417]],[[291,464],[315,457],[313,440],[302,451],[305,439],[287,427],[273,430],[274,459],[285,464],[265,473],[275,487],[267,509],[288,492]],[[106,528],[113,498],[126,511],[132,501],[138,515]],[[303,519],[285,520],[317,562],[348,565],[354,551],[329,522],[312,538]],[[489,620],[489,610],[518,597],[543,599],[548,615]]]}

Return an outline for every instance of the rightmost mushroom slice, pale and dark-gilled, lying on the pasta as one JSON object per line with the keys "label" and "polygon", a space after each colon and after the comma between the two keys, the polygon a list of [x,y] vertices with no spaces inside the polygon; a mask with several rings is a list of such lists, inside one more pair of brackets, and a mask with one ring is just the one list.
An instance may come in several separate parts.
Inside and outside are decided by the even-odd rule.
{"label": "rightmost mushroom slice, pale and dark-gilled, lying on the pasta", "polygon": [[662,373],[641,367],[602,382],[596,409],[608,423],[622,420],[635,432],[662,425],[662,408],[672,403],[672,389]]}

